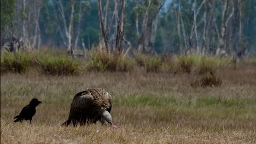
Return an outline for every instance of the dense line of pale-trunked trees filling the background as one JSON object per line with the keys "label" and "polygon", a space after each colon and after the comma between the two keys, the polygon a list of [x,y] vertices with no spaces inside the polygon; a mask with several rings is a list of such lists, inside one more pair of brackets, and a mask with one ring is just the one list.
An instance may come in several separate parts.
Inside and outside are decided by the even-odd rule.
{"label": "dense line of pale-trunked trees filling the background", "polygon": [[1,0],[1,43],[76,52],[102,43],[110,51],[245,55],[255,51],[253,0]]}

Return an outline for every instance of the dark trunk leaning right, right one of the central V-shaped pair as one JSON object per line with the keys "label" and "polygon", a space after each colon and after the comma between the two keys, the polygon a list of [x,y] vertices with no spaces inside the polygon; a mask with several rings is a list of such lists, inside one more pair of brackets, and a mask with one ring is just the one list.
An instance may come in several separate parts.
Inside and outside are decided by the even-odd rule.
{"label": "dark trunk leaning right, right one of the central V-shaped pair", "polygon": [[125,10],[125,1],[122,0],[121,16],[118,22],[117,37],[115,40],[115,47],[117,48],[118,54],[120,54],[121,52],[121,46],[122,46],[122,41],[124,37],[124,10]]}

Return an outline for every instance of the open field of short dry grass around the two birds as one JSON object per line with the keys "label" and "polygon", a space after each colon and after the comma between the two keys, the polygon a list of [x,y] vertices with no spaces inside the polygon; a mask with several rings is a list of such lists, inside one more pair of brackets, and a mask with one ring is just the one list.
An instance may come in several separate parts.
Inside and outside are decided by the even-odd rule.
{"label": "open field of short dry grass around the two birds", "polygon": [[[256,66],[219,69],[218,87],[191,87],[191,74],[88,71],[1,74],[1,143],[256,143]],[[114,98],[118,129],[61,127],[74,95],[102,87]],[[32,98],[29,122],[14,123]]]}

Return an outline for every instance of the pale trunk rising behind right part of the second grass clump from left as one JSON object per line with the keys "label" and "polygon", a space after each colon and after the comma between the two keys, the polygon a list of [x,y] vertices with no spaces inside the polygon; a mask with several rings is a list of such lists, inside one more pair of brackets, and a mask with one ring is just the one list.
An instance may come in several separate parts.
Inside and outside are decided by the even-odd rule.
{"label": "pale trunk rising behind right part of the second grass clump from left", "polygon": [[68,27],[68,49],[67,52],[70,55],[73,55],[73,46],[72,46],[72,28],[73,28],[73,16],[74,16],[74,4],[75,0],[71,0],[71,15],[69,19],[69,27]]}

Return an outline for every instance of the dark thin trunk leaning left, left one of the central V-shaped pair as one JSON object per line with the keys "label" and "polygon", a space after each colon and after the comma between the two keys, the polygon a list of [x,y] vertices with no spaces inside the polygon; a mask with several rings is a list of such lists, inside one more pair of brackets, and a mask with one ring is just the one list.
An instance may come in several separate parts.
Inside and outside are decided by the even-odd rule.
{"label": "dark thin trunk leaning left, left one of the central V-shaped pair", "polygon": [[101,7],[101,0],[97,0],[98,4],[98,17],[100,18],[100,30],[101,30],[101,40],[104,40],[104,45],[106,47],[106,51],[108,52],[108,39],[106,34],[106,29],[102,20],[102,7]]}

